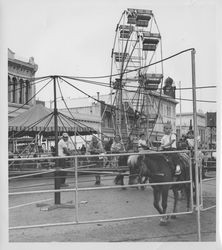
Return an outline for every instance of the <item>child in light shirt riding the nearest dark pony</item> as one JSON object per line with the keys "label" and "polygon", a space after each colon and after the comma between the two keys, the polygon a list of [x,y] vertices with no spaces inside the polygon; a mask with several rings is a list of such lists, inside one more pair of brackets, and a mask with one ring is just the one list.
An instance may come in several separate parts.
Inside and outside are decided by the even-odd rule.
{"label": "child in light shirt riding the nearest dark pony", "polygon": [[[161,139],[161,149],[163,151],[173,151],[176,150],[176,135],[174,133],[172,133],[172,126],[170,123],[166,123],[164,124],[163,127],[163,131],[164,131],[164,136]],[[177,161],[177,156],[176,154],[171,155],[172,157],[172,161],[174,163],[174,165],[176,166],[174,175],[180,175],[181,174],[181,169],[180,169],[180,165],[178,165],[175,160]],[[174,159],[176,158],[176,159]]]}

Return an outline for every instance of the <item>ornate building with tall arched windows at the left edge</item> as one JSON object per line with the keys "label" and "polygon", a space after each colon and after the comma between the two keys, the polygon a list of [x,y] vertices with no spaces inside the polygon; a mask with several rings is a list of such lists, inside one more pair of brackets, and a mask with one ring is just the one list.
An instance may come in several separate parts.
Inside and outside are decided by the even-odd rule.
{"label": "ornate building with tall arched windows at the left edge", "polygon": [[22,59],[15,52],[8,49],[8,118],[16,117],[20,113],[35,105],[35,84],[32,79],[38,70],[34,58]]}

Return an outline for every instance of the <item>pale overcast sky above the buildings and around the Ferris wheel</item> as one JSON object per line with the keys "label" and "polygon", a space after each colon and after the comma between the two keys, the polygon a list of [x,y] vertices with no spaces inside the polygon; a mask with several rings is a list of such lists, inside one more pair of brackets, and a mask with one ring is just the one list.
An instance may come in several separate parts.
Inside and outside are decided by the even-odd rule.
{"label": "pale overcast sky above the buildings and around the Ferris wheel", "polygon": [[[16,55],[33,56],[38,64],[36,76],[109,75],[115,28],[127,8],[150,9],[162,36],[163,57],[188,48],[196,49],[196,85],[215,86],[217,76],[216,18],[218,5],[213,0],[8,0],[1,1],[3,44]],[[164,63],[164,78],[171,76],[176,85],[191,87],[190,52]],[[108,79],[103,79],[108,82]],[[96,95],[107,88],[77,83]],[[52,85],[38,98],[53,98]],[[63,88],[66,98],[82,96]],[[197,99],[216,101],[216,89],[197,90]],[[179,97],[179,91],[177,91]],[[192,98],[182,91],[182,98]],[[197,109],[216,111],[216,104],[199,103]],[[177,108],[179,111],[179,105]],[[192,111],[192,102],[182,102],[182,112]]]}

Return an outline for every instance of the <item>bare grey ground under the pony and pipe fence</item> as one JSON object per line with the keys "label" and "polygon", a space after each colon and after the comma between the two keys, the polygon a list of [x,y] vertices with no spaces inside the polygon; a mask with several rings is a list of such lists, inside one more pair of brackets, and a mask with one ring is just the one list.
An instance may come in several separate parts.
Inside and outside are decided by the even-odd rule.
{"label": "bare grey ground under the pony and pipe fence", "polygon": [[[215,175],[215,173],[210,174]],[[211,176],[211,177],[212,177]],[[95,187],[93,176],[81,176],[79,187]],[[68,188],[74,180],[68,178]],[[125,179],[127,183],[127,178]],[[113,184],[113,177],[103,177],[101,187]],[[54,189],[53,179],[28,179],[12,181],[9,191],[23,192]],[[153,208],[152,188],[80,191],[78,193],[79,222],[106,220],[121,217],[157,215]],[[62,204],[74,204],[75,192],[62,192]],[[38,206],[36,205],[38,204]],[[48,206],[43,206],[47,205]],[[203,208],[216,204],[216,180],[203,183]],[[197,241],[196,212],[170,219],[167,226],[159,225],[159,217],[128,221],[97,222],[29,229],[17,226],[68,223],[76,220],[76,208],[53,208],[54,194],[22,194],[9,197],[10,242],[195,242]],[[168,212],[172,212],[173,197],[169,195]],[[186,201],[179,200],[179,212],[186,211]],[[201,240],[216,241],[216,208],[201,212]]]}

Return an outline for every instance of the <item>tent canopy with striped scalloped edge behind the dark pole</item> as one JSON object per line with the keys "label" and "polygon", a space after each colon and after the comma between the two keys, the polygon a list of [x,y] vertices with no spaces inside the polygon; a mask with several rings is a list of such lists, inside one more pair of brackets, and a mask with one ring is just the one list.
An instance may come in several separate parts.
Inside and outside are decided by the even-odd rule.
{"label": "tent canopy with striped scalloped edge behind the dark pole", "polygon": [[[78,118],[58,112],[58,133],[63,132],[72,135],[89,135],[96,133],[95,126],[89,127]],[[42,104],[32,106],[29,110],[21,113],[8,123],[9,136],[35,136],[41,132],[43,136],[55,134],[54,110],[44,107]]]}

